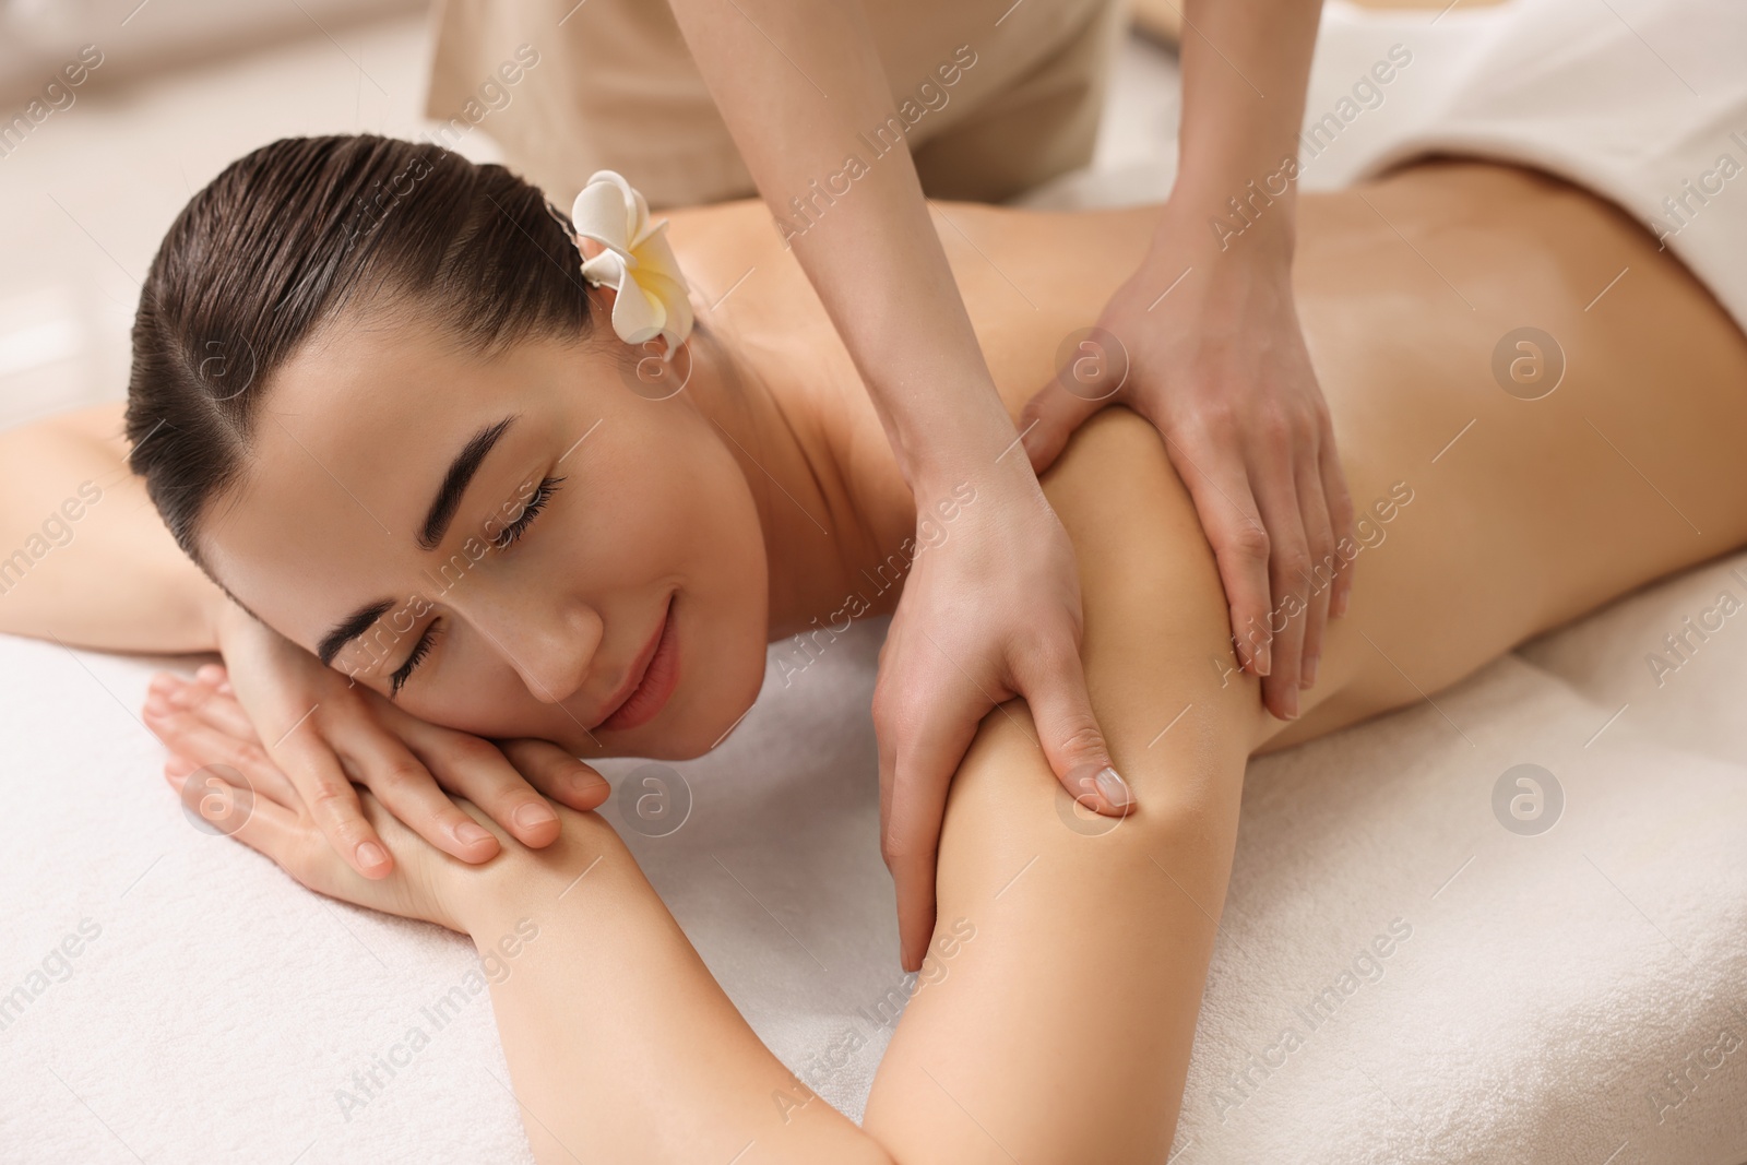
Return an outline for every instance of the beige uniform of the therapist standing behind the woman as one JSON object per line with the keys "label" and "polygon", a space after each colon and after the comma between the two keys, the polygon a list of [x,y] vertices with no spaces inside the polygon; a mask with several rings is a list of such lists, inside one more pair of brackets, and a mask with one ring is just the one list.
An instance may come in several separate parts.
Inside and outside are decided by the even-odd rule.
{"label": "beige uniform of the therapist standing behind the woman", "polygon": [[[1087,164],[1122,7],[868,0],[924,190],[1001,201]],[[756,192],[664,0],[437,0],[435,23],[438,136],[491,134],[559,206],[603,168],[655,206]],[[765,44],[748,68],[795,68]]]}

